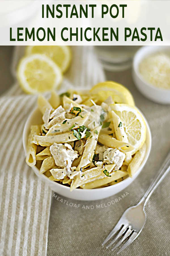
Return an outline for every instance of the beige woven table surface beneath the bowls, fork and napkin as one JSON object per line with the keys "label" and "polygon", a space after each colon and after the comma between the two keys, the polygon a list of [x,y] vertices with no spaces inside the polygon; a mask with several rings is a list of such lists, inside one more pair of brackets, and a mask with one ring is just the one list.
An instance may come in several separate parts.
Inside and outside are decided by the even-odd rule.
{"label": "beige woven table surface beneath the bowls, fork and napkin", "polygon": [[[13,82],[10,74],[12,47],[0,47],[0,94]],[[53,197],[50,212],[47,255],[116,255],[101,247],[101,243],[116,224],[124,210],[134,205],[142,197],[151,180],[170,150],[170,106],[151,102],[136,89],[131,70],[123,72],[106,72],[108,80],[124,84],[132,92],[137,107],[145,113],[152,132],[152,152],[150,157],[132,185],[124,191],[104,200],[81,202],[65,199],[59,202]],[[154,192],[146,207],[147,221],[139,238],[120,255],[170,255],[170,175]],[[126,193],[126,197],[119,201]],[[116,201],[117,200],[117,201]],[[68,201],[68,203],[67,203]],[[105,207],[108,202],[114,202]],[[64,201],[63,201],[64,202]],[[74,203],[76,207],[67,204]],[[80,204],[80,207],[78,207]],[[102,205],[96,209],[96,205]],[[88,209],[88,206],[94,209]],[[87,209],[84,209],[87,207]]]}

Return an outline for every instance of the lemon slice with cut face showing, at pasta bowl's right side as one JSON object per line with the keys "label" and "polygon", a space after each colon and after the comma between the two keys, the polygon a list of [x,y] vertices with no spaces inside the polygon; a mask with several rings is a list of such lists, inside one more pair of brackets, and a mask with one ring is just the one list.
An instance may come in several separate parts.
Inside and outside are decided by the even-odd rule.
{"label": "lemon slice with cut face showing, at pasta bowl's right side", "polygon": [[120,117],[128,143],[135,147],[134,154],[146,139],[146,124],[142,114],[137,108],[126,104],[112,104],[111,109]]}

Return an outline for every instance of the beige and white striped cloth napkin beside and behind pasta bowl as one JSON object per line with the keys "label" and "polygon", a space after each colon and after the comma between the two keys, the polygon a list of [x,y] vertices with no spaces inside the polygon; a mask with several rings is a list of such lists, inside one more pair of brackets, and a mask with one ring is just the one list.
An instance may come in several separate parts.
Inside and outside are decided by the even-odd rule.
{"label": "beige and white striped cloth napkin beside and behind pasta bowl", "polygon": [[[71,68],[62,90],[88,89],[105,80],[93,47],[73,47]],[[24,48],[16,47],[16,64]],[[22,133],[36,105],[36,96],[26,95],[16,83],[0,97],[0,255],[46,255],[52,191],[25,163]]]}

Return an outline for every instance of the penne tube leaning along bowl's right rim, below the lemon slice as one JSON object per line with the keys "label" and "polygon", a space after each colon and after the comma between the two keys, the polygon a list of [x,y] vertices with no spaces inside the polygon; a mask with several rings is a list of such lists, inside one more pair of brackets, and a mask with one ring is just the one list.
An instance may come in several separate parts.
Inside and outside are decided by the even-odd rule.
{"label": "penne tube leaning along bowl's right rim, below the lemon slice", "polygon": [[128,166],[128,174],[132,178],[135,174],[135,172],[139,169],[139,166],[141,165],[143,158],[146,153],[146,144],[144,143],[143,146],[135,153],[135,156],[131,160],[129,166]]}

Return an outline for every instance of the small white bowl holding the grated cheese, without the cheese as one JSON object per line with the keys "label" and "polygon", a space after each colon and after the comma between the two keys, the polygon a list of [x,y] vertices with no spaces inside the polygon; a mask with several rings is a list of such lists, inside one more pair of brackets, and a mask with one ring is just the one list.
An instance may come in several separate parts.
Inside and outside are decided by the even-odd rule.
{"label": "small white bowl holding the grated cheese, without the cheese", "polygon": [[139,72],[139,64],[148,55],[159,51],[170,51],[170,46],[143,46],[136,53],[133,58],[132,76],[135,85],[139,91],[154,102],[161,104],[170,104],[170,90],[157,88],[156,86],[146,82]]}

